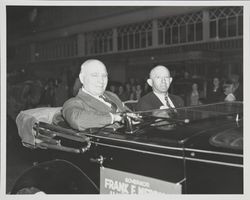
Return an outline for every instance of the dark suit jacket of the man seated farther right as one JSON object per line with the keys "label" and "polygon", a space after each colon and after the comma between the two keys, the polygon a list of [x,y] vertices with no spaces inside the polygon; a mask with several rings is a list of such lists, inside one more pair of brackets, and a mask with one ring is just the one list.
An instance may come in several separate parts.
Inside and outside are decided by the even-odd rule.
{"label": "dark suit jacket of the man seated farther right", "polygon": [[[184,106],[184,101],[181,97],[172,94],[169,94],[168,96],[176,108]],[[150,92],[140,98],[135,109],[137,111],[146,111],[159,109],[161,106],[163,106],[163,104],[160,99],[154,94],[154,92]]]}

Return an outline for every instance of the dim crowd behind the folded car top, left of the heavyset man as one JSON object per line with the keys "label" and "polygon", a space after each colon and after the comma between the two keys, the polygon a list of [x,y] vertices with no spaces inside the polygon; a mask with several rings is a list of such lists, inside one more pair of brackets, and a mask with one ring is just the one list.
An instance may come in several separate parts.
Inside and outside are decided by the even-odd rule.
{"label": "dim crowd behind the folded car top, left of the heavyset man", "polygon": [[7,78],[7,114],[14,120],[21,110],[61,107],[72,96],[64,79],[49,78],[43,82],[38,78],[22,76],[23,72],[15,72]]}

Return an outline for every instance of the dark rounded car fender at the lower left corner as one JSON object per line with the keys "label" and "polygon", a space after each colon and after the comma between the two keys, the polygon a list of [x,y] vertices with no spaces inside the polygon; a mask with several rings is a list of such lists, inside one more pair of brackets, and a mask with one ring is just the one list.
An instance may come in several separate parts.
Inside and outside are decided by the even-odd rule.
{"label": "dark rounded car fender at the lower left corner", "polygon": [[56,159],[26,170],[15,182],[11,194],[98,194],[99,188],[76,165]]}

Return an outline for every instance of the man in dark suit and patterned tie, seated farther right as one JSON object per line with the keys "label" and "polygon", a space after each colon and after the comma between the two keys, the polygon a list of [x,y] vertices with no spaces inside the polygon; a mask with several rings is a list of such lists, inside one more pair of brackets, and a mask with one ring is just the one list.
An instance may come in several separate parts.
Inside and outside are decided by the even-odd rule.
{"label": "man in dark suit and patterned tie, seated farther right", "polygon": [[168,93],[172,82],[169,70],[163,65],[157,65],[149,74],[147,83],[152,87],[152,92],[143,96],[136,105],[137,111],[153,109],[177,108],[184,106],[181,97]]}

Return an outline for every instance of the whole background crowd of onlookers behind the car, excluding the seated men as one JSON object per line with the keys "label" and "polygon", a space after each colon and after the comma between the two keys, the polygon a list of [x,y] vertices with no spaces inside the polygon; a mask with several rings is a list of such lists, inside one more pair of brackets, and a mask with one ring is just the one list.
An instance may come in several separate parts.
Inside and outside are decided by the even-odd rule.
{"label": "whole background crowd of onlookers behind the car, excluding the seated men", "polygon": [[[17,77],[21,77],[20,74]],[[197,82],[196,79],[185,76],[183,78],[182,81],[188,80],[189,82],[189,84],[185,82],[182,86],[185,87],[182,89],[185,91],[185,94],[181,96],[185,106],[221,101],[243,101],[243,87],[239,75],[233,74],[227,79],[217,76],[213,77],[212,81],[206,82],[206,92],[204,91],[204,85]],[[11,82],[11,80],[11,77],[8,77],[8,81]],[[174,81],[177,82],[178,80],[175,79]],[[172,87],[173,90],[171,91],[175,94],[178,88]],[[82,88],[82,82],[79,80],[79,77],[75,79],[75,84],[70,85],[67,79],[61,77],[49,78],[44,84],[39,80],[33,82],[26,80],[20,95],[21,98],[17,97],[16,99],[19,101],[17,102],[19,105],[22,104],[19,110],[41,106],[61,107],[67,99],[76,96],[80,88]],[[122,102],[131,101],[136,103],[141,97],[152,91],[152,86],[147,79],[140,81],[135,78],[129,78],[124,84],[110,81],[107,83],[107,90],[115,93]],[[9,95],[13,93],[17,96],[16,92],[8,91],[10,104],[13,104],[13,101],[15,101],[15,98],[12,98],[13,95]]]}

